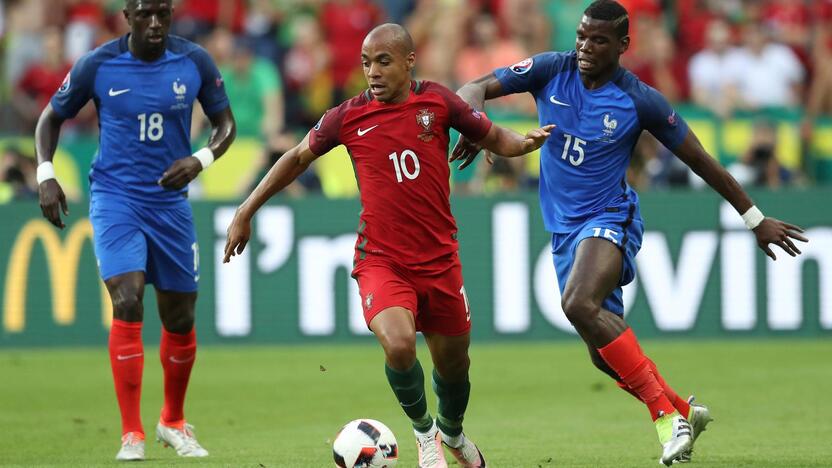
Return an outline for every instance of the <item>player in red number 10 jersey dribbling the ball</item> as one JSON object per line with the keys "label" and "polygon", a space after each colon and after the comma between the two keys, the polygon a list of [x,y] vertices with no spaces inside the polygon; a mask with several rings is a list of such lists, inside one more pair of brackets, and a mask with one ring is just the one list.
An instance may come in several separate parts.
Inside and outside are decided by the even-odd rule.
{"label": "player in red number 10 jersey dribbling the ball", "polygon": [[[449,203],[448,130],[453,127],[497,154],[539,148],[551,126],[519,135],[492,123],[452,91],[411,79],[413,41],[397,24],[372,30],[361,47],[369,89],[329,110],[303,141],[278,160],[234,216],[224,262],[240,254],[251,218],[309,164],[343,144],[352,157],[362,211],[353,277],[364,318],[385,354],[385,372],[410,417],[420,467],[446,467],[442,443],[464,467],[484,467],[462,433],[468,405],[471,315]],[[433,358],[436,421],[416,359],[421,331]]]}

